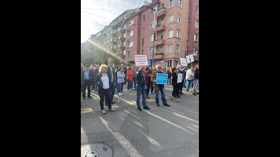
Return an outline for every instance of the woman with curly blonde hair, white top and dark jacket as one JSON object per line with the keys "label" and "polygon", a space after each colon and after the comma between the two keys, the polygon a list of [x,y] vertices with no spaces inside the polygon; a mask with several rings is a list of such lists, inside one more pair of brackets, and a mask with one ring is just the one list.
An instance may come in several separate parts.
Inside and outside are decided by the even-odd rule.
{"label": "woman with curly blonde hair, white top and dark jacket", "polygon": [[104,110],[104,105],[103,105],[104,96],[107,97],[109,111],[116,111],[116,109],[113,109],[111,106],[111,95],[110,95],[110,91],[109,91],[109,89],[110,89],[109,84],[110,84],[111,80],[109,77],[110,75],[107,71],[108,71],[107,66],[102,64],[99,68],[99,74],[96,75],[96,78],[94,80],[95,84],[98,86],[98,94],[100,97],[99,104],[100,104],[102,113],[106,113]]}

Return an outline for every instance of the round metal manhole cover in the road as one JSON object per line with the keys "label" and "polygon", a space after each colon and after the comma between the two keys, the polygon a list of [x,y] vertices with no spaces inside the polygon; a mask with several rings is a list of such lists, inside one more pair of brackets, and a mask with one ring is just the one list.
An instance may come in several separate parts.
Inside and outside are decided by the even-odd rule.
{"label": "round metal manhole cover in the road", "polygon": [[112,149],[106,144],[93,143],[81,147],[81,157],[112,157]]}

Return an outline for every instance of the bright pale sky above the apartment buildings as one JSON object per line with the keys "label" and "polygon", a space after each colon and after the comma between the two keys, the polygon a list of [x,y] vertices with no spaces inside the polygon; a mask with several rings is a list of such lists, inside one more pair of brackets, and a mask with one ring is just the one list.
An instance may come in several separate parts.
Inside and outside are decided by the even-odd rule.
{"label": "bright pale sky above the apartment buildings", "polygon": [[[81,0],[81,43],[91,34],[108,26],[115,18],[128,9],[144,5],[145,0]],[[146,0],[151,3],[151,0]],[[104,9],[104,10],[97,10]],[[118,11],[116,11],[118,10]]]}

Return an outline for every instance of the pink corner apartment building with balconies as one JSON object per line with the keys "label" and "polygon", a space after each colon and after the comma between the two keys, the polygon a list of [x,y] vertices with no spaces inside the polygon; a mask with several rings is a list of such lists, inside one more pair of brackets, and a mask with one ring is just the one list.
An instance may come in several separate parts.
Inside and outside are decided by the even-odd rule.
{"label": "pink corner apartment building with balconies", "polygon": [[[193,13],[198,6],[198,2],[195,1],[182,3],[181,0],[159,0],[148,4],[149,8],[142,6],[137,13],[131,13],[127,17],[126,65],[134,64],[133,54],[147,54],[152,65],[153,44],[155,66],[160,64],[166,71],[169,67],[181,64],[180,58],[185,58],[186,51],[195,48],[199,50],[199,15]],[[197,56],[194,56],[195,62],[189,64],[189,68],[195,67],[199,61],[199,52],[191,51],[188,55],[193,53]]]}

